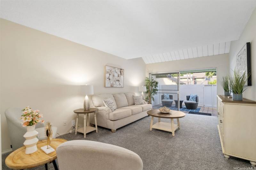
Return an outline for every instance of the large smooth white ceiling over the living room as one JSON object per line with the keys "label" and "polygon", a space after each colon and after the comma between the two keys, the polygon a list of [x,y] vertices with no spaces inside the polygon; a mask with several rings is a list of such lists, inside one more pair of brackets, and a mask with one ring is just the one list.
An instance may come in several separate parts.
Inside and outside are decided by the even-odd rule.
{"label": "large smooth white ceiling over the living room", "polygon": [[237,40],[255,6],[256,1],[1,1],[1,18],[126,59],[183,49],[189,57],[193,47]]}

